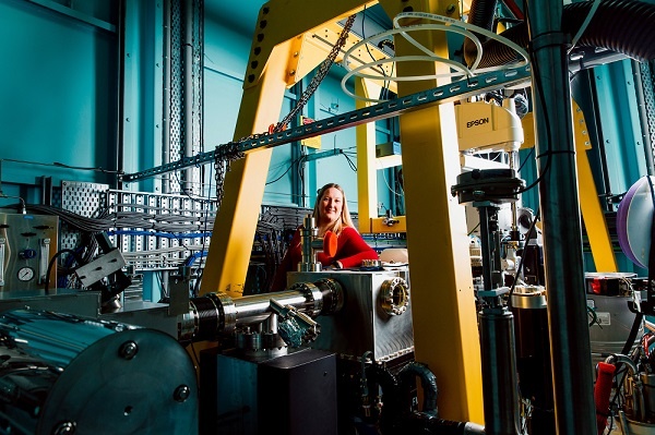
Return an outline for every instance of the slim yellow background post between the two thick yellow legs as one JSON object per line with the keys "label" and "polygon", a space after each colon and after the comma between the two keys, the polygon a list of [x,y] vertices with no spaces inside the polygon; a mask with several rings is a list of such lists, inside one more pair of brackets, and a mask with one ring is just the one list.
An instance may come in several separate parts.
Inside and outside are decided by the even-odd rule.
{"label": "slim yellow background post between the two thick yellow legs", "polygon": [[[355,78],[355,94],[372,98],[373,89],[380,90],[377,86],[365,78]],[[356,100],[355,107],[364,109],[370,106],[370,102]],[[367,122],[356,128],[357,141],[357,198],[359,232],[371,232],[371,219],[378,217],[378,186],[376,169],[376,123]]]}

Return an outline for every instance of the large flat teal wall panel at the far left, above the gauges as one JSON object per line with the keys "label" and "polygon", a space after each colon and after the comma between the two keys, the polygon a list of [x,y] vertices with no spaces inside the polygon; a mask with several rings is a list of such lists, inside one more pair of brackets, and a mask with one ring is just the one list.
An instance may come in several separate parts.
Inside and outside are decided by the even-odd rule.
{"label": "large flat teal wall panel at the far left, above the gauges", "polygon": [[91,3],[84,11],[71,11],[71,16],[27,1],[0,1],[0,158],[5,194],[33,200],[29,186],[44,174],[53,183],[114,179],[7,160],[117,168],[115,2],[98,0],[95,8]]}

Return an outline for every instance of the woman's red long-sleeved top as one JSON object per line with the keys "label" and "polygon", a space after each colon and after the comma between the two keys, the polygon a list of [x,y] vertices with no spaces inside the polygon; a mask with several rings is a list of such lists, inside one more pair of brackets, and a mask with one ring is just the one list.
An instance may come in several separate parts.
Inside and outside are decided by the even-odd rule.
{"label": "woman's red long-sleeved top", "polygon": [[[323,267],[338,261],[342,267],[359,267],[362,259],[378,259],[378,253],[368,245],[361,234],[353,227],[346,227],[337,238],[336,254],[327,256],[324,252],[317,254],[317,259]],[[296,230],[279,267],[275,271],[271,291],[281,291],[286,288],[286,273],[298,270],[298,263],[302,261],[302,249],[300,246],[300,231]]]}

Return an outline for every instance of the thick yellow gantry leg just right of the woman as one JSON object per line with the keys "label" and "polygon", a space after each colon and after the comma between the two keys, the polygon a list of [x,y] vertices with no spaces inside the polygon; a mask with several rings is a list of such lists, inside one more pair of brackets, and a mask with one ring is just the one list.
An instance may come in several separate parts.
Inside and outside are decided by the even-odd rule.
{"label": "thick yellow gantry leg just right of the woman", "polygon": [[[453,16],[451,1],[381,0],[390,16],[412,8]],[[450,7],[450,8],[449,8]],[[454,17],[454,16],[453,16]],[[412,37],[448,58],[445,35],[413,32]],[[417,53],[402,37],[396,56]],[[449,68],[434,62],[400,62],[397,76],[436,75]],[[450,78],[398,83],[398,95],[446,84]],[[481,359],[464,206],[450,193],[460,173],[453,104],[403,113],[403,176],[407,246],[417,361],[427,363],[439,385],[444,419],[484,423]]]}

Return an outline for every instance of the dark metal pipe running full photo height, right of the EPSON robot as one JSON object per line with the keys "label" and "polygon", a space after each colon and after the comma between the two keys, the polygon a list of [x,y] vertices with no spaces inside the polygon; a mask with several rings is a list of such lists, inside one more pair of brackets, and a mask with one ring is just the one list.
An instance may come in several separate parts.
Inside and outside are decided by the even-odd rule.
{"label": "dark metal pipe running full photo height, right of the EPSON robot", "polygon": [[562,4],[528,0],[548,321],[558,434],[596,432]]}

